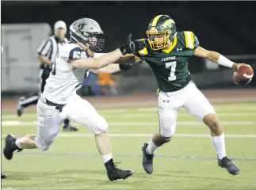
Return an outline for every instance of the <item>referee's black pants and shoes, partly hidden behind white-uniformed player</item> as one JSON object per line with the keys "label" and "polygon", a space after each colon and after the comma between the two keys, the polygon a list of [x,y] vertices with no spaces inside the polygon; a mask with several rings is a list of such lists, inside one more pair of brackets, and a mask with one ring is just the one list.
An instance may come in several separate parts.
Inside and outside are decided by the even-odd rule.
{"label": "referee's black pants and shoes, partly hidden behind white-uniformed player", "polygon": [[[49,77],[52,68],[48,65],[42,64],[39,71],[39,92],[35,93],[32,97],[20,97],[18,105],[17,105],[17,115],[22,116],[25,108],[29,107],[30,105],[36,105],[37,101],[39,100],[40,93],[44,92],[44,86],[46,85],[46,79]],[[70,120],[64,120],[64,131],[78,131],[78,127],[73,127],[70,124]]]}

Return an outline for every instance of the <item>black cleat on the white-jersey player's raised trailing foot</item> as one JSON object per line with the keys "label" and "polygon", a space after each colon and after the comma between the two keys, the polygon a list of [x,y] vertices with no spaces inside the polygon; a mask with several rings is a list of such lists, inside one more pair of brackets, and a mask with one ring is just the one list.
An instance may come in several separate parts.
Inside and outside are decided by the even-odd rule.
{"label": "black cleat on the white-jersey player's raised trailing foot", "polygon": [[22,149],[18,148],[15,144],[16,139],[13,135],[6,136],[6,146],[3,149],[3,154],[5,155],[7,160],[11,160],[13,158],[13,152],[17,150],[20,152]]}

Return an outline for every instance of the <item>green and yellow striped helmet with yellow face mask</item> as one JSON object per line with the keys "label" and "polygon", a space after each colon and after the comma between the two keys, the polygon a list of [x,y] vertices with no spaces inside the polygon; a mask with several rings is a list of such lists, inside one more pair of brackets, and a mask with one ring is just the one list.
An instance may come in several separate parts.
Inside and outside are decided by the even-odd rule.
{"label": "green and yellow striped helmet with yellow face mask", "polygon": [[174,20],[167,15],[158,15],[147,28],[147,39],[152,50],[161,50],[170,45],[176,33]]}

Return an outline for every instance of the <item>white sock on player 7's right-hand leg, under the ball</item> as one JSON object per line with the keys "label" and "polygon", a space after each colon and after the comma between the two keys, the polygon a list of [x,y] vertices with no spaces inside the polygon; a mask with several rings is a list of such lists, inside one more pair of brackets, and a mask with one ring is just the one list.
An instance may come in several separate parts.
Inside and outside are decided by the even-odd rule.
{"label": "white sock on player 7's right-hand leg, under the ball", "polygon": [[218,158],[222,159],[226,156],[226,148],[225,148],[225,135],[224,133],[220,136],[211,136],[212,143],[215,146],[216,152],[218,154]]}

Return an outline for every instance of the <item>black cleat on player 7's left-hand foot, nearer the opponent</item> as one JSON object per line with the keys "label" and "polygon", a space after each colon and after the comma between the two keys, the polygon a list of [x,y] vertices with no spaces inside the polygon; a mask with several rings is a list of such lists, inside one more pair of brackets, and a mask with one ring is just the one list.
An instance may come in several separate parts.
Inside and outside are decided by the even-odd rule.
{"label": "black cleat on player 7's left-hand foot, nearer the opponent", "polygon": [[143,155],[143,160],[142,160],[142,165],[143,165],[143,169],[145,169],[145,171],[148,174],[153,173],[153,158],[154,158],[154,154],[148,154],[147,153],[147,146],[148,143],[144,143],[141,150],[142,150],[142,155]]}

